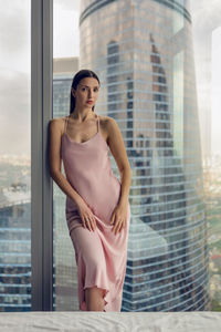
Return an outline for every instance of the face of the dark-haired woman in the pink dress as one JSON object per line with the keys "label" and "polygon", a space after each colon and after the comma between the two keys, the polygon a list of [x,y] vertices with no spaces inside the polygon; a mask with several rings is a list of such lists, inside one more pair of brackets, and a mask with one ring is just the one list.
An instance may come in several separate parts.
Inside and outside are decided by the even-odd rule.
{"label": "face of the dark-haired woman in the pink dress", "polygon": [[[92,108],[98,97],[99,83],[94,77],[85,77],[80,81],[76,90],[72,87],[72,94],[75,97],[75,106]],[[92,103],[87,101],[91,100]]]}

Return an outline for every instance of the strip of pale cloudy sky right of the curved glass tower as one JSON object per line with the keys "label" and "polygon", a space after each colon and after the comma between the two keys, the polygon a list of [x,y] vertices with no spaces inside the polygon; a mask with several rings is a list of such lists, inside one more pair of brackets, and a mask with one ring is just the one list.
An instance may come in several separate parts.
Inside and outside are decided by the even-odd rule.
{"label": "strip of pale cloudy sky right of the curved glass tower", "polygon": [[[194,69],[197,79],[198,111],[201,129],[208,126],[208,117],[202,116],[206,108],[211,110],[211,152],[212,155],[221,155],[221,112],[219,111],[221,95],[221,34],[215,33],[215,42],[212,31],[221,27],[221,1],[220,0],[191,0],[190,13],[192,18],[192,38],[194,51]],[[210,31],[211,45],[208,46],[208,31]],[[217,55],[219,54],[219,55]],[[211,60],[211,63],[210,63]],[[209,84],[208,77],[211,79]],[[215,77],[215,79],[214,79]],[[211,96],[209,97],[210,91]],[[219,104],[219,105],[218,105]],[[210,108],[211,106],[211,108]],[[201,131],[203,136],[204,131]],[[203,137],[202,137],[203,142]]]}

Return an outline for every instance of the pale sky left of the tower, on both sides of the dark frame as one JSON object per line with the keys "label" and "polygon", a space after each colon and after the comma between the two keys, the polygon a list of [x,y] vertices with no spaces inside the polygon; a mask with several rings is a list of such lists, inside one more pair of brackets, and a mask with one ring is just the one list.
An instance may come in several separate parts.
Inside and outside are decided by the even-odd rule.
{"label": "pale sky left of the tower, on both sides of the dark frame", "polygon": [[[80,0],[54,0],[53,10],[54,58],[78,56]],[[30,156],[31,0],[0,0],[0,158]]]}

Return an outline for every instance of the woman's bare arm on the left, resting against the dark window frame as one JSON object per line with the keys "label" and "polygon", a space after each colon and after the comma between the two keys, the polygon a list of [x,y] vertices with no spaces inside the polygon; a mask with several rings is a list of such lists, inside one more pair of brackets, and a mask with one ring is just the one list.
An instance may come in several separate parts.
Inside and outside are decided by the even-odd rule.
{"label": "woman's bare arm on the left, resting against the dark window frame", "polygon": [[82,201],[82,197],[71,186],[66,177],[61,172],[61,136],[63,121],[61,118],[53,118],[50,121],[50,144],[49,144],[49,163],[50,175],[57,184],[57,186],[73,199],[77,205]]}

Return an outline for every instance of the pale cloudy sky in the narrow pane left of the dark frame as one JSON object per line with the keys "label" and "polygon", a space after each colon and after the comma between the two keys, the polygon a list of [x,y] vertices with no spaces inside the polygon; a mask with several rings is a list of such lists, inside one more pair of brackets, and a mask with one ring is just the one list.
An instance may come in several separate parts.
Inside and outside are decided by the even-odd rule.
{"label": "pale cloudy sky in the narrow pane left of the dark frame", "polygon": [[30,1],[0,9],[0,156],[30,155]]}

